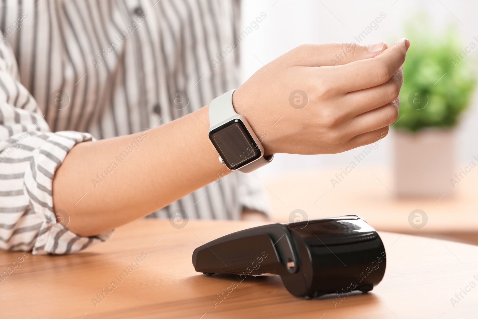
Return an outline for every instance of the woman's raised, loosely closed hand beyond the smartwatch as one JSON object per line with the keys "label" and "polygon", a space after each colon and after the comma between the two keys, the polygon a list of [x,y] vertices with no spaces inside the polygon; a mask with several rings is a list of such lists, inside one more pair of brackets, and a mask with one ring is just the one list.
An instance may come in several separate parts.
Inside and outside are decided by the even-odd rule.
{"label": "woman's raised, loosely closed hand beyond the smartwatch", "polygon": [[233,95],[265,153],[331,154],[376,142],[397,120],[410,42],[304,44]]}

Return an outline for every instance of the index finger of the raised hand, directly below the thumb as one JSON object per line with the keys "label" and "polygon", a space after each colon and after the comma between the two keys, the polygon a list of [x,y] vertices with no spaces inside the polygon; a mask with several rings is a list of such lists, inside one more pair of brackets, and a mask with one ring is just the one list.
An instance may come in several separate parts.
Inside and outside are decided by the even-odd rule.
{"label": "index finger of the raised hand, directly below the thumb", "polygon": [[[407,39],[401,39],[374,58],[326,70],[322,85],[336,92],[347,93],[385,83],[402,66],[408,45]],[[324,70],[318,72],[324,73]]]}

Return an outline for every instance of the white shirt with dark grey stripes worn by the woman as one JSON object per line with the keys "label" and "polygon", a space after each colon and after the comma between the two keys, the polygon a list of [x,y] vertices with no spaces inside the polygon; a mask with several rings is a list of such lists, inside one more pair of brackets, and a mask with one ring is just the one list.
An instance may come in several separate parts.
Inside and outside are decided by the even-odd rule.
{"label": "white shirt with dark grey stripes worn by the woman", "polygon": [[[0,248],[108,239],[58,223],[55,170],[76,143],[162,125],[236,88],[239,50],[224,48],[238,17],[237,0],[2,0]],[[238,219],[244,207],[267,209],[256,177],[233,173],[150,217]]]}

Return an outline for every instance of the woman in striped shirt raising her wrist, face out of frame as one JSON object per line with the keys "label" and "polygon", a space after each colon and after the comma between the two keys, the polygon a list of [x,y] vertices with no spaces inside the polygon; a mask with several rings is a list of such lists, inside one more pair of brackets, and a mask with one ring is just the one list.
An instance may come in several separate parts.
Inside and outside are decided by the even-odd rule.
{"label": "woman in striped shirt raising her wrist, face out of frame", "polygon": [[[235,1],[6,1],[1,10],[1,248],[75,252],[168,205],[197,218],[264,209],[253,188],[240,196],[242,177],[208,138],[207,104],[237,88],[237,50],[211,61],[241,33]],[[372,143],[396,120],[408,46],[303,45],[231,102],[265,155]],[[304,108],[289,102],[297,89]]]}

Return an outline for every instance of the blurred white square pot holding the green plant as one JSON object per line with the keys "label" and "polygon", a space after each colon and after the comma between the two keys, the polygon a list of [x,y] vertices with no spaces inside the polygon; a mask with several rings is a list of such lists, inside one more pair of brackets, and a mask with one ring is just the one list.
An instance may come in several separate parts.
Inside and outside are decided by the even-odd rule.
{"label": "blurred white square pot holding the green plant", "polygon": [[451,194],[456,137],[447,129],[395,131],[395,191],[399,197]]}

